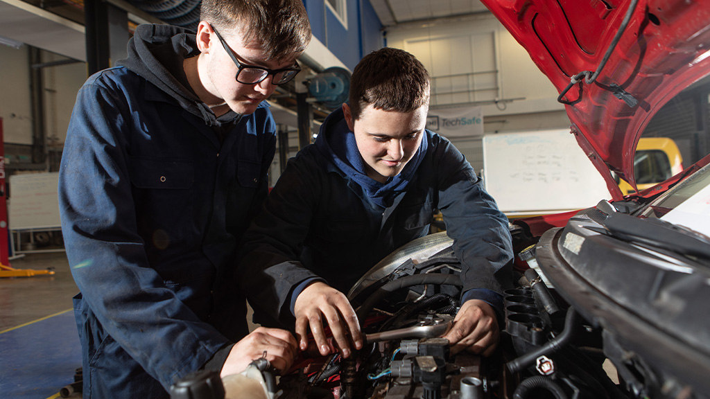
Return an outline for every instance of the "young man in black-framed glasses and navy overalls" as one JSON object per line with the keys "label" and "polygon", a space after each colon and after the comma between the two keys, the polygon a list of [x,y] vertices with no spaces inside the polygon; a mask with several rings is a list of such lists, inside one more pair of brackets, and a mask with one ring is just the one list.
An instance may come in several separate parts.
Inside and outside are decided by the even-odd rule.
{"label": "young man in black-framed glasses and navy overalls", "polygon": [[301,0],[203,0],[201,18],[138,26],[77,94],[59,195],[84,398],[168,398],[188,373],[283,370],[297,351],[285,330],[248,334],[232,269],[275,152],[263,100],[310,24]]}

